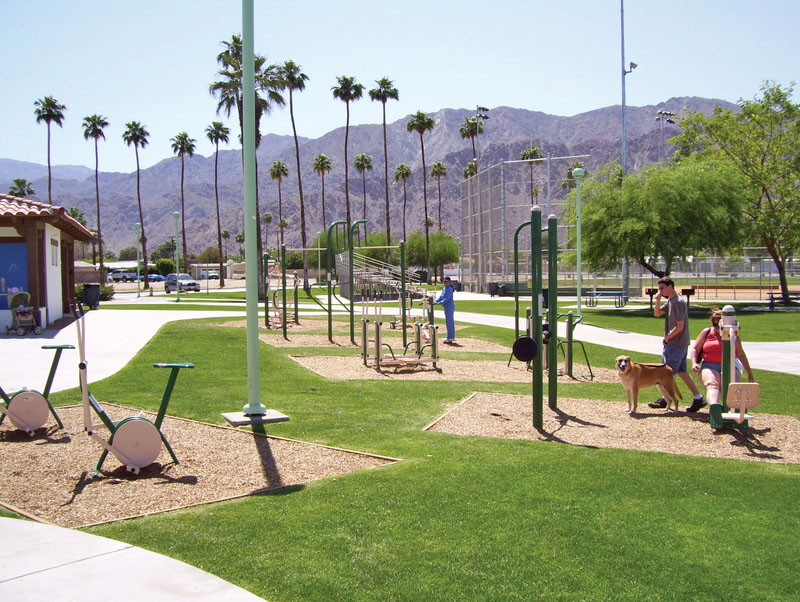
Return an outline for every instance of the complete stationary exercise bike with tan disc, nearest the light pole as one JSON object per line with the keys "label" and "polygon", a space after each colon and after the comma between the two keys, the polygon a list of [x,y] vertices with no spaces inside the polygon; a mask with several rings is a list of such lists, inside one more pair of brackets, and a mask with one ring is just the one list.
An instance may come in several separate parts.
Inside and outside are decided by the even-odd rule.
{"label": "complete stationary exercise bike with tan disc, nearest the light pole", "polygon": [[[103,448],[100,459],[95,464],[94,472],[98,474],[103,462],[111,452],[122,462],[125,467],[133,474],[139,474],[139,470],[152,464],[161,453],[161,444],[167,448],[169,455],[175,464],[180,464],[175,452],[172,451],[167,438],[161,432],[161,423],[167,412],[169,399],[178,378],[178,371],[181,368],[194,368],[194,364],[153,364],[154,368],[171,368],[167,386],[164,389],[164,396],[161,398],[161,405],[158,408],[158,415],[154,422],[144,416],[129,416],[119,422],[113,422],[106,414],[103,407],[98,403],[94,396],[89,392],[89,377],[87,374],[86,362],[86,322],[83,316],[83,307],[72,306],[72,313],[75,316],[75,324],[78,328],[78,351],[80,353],[80,363],[78,369],[80,373],[81,400],[83,403],[83,428],[86,433]],[[95,424],[92,420],[92,411],[97,414],[102,424]],[[97,429],[105,426],[110,433],[108,440],[101,436]]]}

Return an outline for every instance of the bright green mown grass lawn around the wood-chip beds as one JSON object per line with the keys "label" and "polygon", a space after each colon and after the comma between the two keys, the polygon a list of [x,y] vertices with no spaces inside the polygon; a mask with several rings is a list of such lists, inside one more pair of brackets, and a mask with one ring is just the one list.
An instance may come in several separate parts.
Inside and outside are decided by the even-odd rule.
{"label": "bright green mown grass lawn around the wood-chip beds", "polygon": [[[221,423],[247,397],[245,332],[214,321],[165,325],[93,392],[155,409],[163,374],[150,365],[193,361],[169,413]],[[340,320],[336,329],[347,331]],[[508,332],[476,325],[459,336],[507,342]],[[618,354],[587,348],[593,365]],[[472,391],[530,385],[327,381],[287,352],[260,348],[263,400],[291,416],[270,433],[403,461],[89,531],[270,600],[797,599],[796,465],[426,433]],[[800,377],[757,377],[770,391],[759,411],[800,416]],[[613,384],[559,395],[622,399]]]}

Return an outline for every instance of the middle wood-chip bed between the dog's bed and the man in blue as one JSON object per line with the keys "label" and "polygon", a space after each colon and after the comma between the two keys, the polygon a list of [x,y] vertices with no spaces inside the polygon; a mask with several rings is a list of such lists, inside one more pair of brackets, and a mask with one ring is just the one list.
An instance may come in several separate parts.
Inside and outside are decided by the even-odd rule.
{"label": "middle wood-chip bed between the dog's bed and the man in blue", "polygon": [[[461,361],[442,360],[437,362],[441,372],[437,372],[430,364],[420,367],[404,367],[397,369],[386,368],[383,373],[375,368],[364,366],[361,357],[349,356],[292,356],[298,364],[316,372],[320,376],[332,380],[376,380],[376,379],[403,379],[403,380],[458,380],[482,382],[530,382],[531,373],[522,362],[512,361],[510,366],[504,361]],[[591,382],[585,376],[588,372],[585,366],[575,365],[573,373],[577,378],[572,379],[566,375],[559,375],[558,381],[563,383]],[[617,382],[617,373],[605,368],[594,368],[594,382]],[[547,373],[545,372],[545,378]]]}

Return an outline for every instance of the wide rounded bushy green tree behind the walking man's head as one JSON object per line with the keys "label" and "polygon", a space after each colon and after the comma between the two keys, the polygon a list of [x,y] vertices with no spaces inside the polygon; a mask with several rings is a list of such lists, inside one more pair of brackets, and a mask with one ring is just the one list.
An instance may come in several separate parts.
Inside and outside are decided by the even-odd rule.
{"label": "wide rounded bushy green tree behind the walking man's head", "polygon": [[[676,259],[740,242],[746,188],[732,169],[707,161],[652,165],[621,184],[620,173],[616,163],[601,166],[582,186],[582,251],[590,269],[616,269],[631,257],[661,277]],[[569,198],[567,219],[574,224],[575,193]],[[574,248],[574,230],[570,236]],[[656,268],[659,257],[664,270]]]}

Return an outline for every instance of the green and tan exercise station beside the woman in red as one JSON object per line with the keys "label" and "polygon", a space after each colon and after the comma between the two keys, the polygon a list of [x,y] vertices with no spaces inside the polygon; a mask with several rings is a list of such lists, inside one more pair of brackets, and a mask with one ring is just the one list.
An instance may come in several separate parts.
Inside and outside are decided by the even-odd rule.
{"label": "green and tan exercise station beside the woman in red", "polygon": [[[709,422],[714,429],[746,429],[753,418],[747,410],[758,406],[758,383],[739,383],[736,372],[736,340],[739,338],[739,321],[736,310],[726,305],[722,308],[722,403],[708,408]],[[729,412],[734,409],[736,412]]]}

